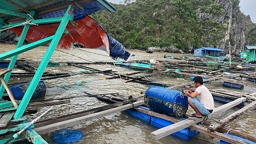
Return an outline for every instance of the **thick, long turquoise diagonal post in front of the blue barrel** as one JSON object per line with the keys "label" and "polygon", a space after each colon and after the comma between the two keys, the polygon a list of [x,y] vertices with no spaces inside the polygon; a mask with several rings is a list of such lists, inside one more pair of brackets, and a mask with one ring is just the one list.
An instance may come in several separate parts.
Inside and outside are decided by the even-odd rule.
{"label": "thick, long turquoise diagonal post in front of the blue barrel", "polygon": [[53,36],[52,42],[50,43],[46,53],[43,56],[43,59],[37,69],[36,74],[32,78],[31,83],[28,86],[25,95],[21,100],[21,103],[20,103],[17,111],[14,114],[14,119],[21,117],[23,115],[25,109],[27,108],[28,102],[30,101],[30,99],[33,95],[33,92],[35,91],[37,84],[38,84],[39,80],[41,79],[44,70],[46,69],[48,62],[50,61],[50,59],[53,55],[53,52],[54,52],[55,48],[57,47],[57,44],[59,43],[59,40],[69,22],[69,20],[73,20],[73,16],[71,16],[73,9],[74,9],[74,6],[69,5],[65,15],[63,16],[62,21],[59,24],[57,31],[55,32],[55,34]]}

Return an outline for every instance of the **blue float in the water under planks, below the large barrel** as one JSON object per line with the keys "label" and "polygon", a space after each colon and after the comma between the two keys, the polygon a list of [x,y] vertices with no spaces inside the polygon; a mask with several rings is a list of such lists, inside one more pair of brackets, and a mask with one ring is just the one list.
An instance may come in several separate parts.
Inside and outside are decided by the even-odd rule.
{"label": "blue float in the water under planks, below the large barrel", "polygon": [[[132,115],[133,117],[139,118],[140,120],[143,120],[144,122],[147,122],[156,128],[164,128],[166,126],[174,124],[173,122],[170,122],[168,120],[165,120],[165,119],[162,119],[159,117],[155,117],[155,116],[151,116],[150,112],[152,112],[152,111],[154,112],[154,110],[152,110],[148,107],[139,106],[139,108],[148,110],[149,112],[143,113],[143,112],[136,111],[132,108],[126,110],[126,112],[128,114]],[[180,119],[185,120],[184,117],[181,117]],[[174,135],[174,136],[184,139],[184,140],[189,140],[197,133],[198,132],[196,130],[191,130],[190,128],[183,128],[175,133],[172,133],[171,135]]]}

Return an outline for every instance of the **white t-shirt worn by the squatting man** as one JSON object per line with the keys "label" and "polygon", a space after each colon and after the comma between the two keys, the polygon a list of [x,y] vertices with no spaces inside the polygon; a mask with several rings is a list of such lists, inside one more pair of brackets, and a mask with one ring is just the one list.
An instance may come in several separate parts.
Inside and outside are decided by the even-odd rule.
{"label": "white t-shirt worn by the squatting man", "polygon": [[196,91],[199,93],[197,99],[203,104],[203,106],[208,110],[214,109],[213,96],[204,85],[198,86]]}

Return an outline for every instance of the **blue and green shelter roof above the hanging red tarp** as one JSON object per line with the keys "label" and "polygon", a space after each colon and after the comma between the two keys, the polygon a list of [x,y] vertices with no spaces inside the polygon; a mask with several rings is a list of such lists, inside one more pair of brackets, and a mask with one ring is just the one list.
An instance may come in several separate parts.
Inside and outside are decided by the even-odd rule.
{"label": "blue and green shelter roof above the hanging red tarp", "polygon": [[[29,11],[36,10],[36,17],[48,18],[63,16],[66,9],[72,1],[76,6],[72,15],[90,15],[96,11],[107,9],[111,12],[116,11],[116,8],[107,0],[0,0],[0,10],[13,11],[23,14],[29,14]],[[84,11],[79,9],[79,6],[84,8]],[[5,23],[20,21],[17,16],[0,13],[0,18],[3,18]],[[24,18],[22,18],[24,19]]]}

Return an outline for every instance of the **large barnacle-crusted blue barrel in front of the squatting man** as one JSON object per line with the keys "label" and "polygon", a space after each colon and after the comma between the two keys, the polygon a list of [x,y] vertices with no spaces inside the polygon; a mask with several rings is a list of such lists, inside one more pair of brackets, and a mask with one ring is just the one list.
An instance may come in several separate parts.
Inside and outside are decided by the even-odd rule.
{"label": "large barnacle-crusted blue barrel in front of the squatting man", "polygon": [[183,92],[160,87],[149,87],[144,101],[156,112],[173,117],[183,117],[188,108],[187,96]]}

